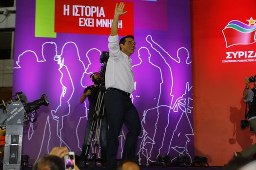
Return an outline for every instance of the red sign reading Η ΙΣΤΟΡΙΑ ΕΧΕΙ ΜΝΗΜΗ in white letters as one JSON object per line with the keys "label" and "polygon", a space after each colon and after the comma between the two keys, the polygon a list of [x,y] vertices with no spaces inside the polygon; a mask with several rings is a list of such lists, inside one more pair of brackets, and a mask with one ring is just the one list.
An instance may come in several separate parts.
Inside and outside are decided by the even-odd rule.
{"label": "red sign reading \u0397 \u0399\u03a3\u03a4\u039f\u03a1\u0399\u0391 \u0395\u03a7\u0395\u0399 \u039c\u039d\u0397\u039c\u0397 in white letters", "polygon": [[[55,32],[75,34],[110,34],[116,3],[114,0],[56,0]],[[133,2],[125,2],[118,34],[134,34]]]}

